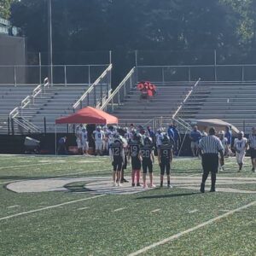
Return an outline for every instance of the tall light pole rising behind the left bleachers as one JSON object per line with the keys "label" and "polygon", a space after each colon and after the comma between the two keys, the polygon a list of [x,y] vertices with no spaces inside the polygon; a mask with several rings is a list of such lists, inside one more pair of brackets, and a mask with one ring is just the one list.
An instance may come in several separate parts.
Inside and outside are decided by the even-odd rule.
{"label": "tall light pole rising behind the left bleachers", "polygon": [[53,84],[52,68],[52,22],[51,22],[51,0],[48,1],[48,79],[49,84]]}

